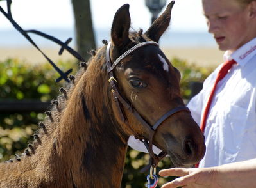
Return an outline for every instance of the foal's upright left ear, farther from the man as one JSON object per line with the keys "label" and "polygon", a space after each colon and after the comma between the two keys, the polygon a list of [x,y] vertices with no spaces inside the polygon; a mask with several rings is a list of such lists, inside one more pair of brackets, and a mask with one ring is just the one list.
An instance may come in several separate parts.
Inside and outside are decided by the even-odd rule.
{"label": "foal's upright left ear, farther from the man", "polygon": [[111,27],[111,38],[115,46],[123,47],[130,41],[129,29],[131,18],[129,4],[124,4],[117,10]]}

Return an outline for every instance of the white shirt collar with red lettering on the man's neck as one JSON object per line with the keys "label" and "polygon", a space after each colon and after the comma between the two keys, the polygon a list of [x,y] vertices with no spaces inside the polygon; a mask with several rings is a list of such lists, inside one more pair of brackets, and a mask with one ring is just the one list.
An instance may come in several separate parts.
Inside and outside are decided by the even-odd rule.
{"label": "white shirt collar with red lettering on the man's neck", "polygon": [[256,55],[256,38],[245,43],[235,52],[226,51],[223,55],[224,61],[234,59],[241,67],[244,67],[246,63]]}

